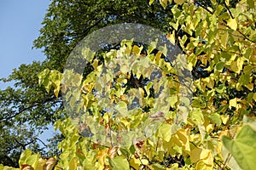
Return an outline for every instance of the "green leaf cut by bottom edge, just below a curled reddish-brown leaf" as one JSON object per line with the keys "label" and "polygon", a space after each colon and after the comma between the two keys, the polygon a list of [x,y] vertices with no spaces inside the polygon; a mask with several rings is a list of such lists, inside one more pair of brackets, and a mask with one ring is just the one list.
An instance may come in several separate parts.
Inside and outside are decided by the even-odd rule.
{"label": "green leaf cut by bottom edge, just below a curled reddish-brown leaf", "polygon": [[113,159],[109,159],[110,167],[113,170],[129,170],[129,162],[122,156],[114,157]]}

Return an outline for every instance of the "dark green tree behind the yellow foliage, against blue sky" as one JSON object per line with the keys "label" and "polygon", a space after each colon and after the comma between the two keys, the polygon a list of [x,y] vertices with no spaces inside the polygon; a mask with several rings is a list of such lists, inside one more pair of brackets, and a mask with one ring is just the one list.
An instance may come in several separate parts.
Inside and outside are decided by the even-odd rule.
{"label": "dark green tree behind the yellow foliage, against blue sky", "polygon": [[[56,99],[55,94],[47,93],[44,87],[38,85],[38,74],[41,71],[46,68],[62,71],[68,54],[91,31],[125,21],[148,24],[164,31],[172,18],[160,17],[166,14],[171,13],[166,13],[158,3],[149,6],[148,1],[53,1],[45,14],[40,36],[34,42],[34,48],[44,49],[47,59],[42,63],[20,65],[8,78],[2,79],[3,82],[15,82],[15,87],[0,92],[1,136],[8,136],[2,140],[0,156],[3,159],[0,159],[0,163],[18,166],[23,145],[40,151],[44,156],[51,155],[44,152],[47,146],[38,146],[38,143],[44,145],[39,141],[38,133],[44,132],[49,124],[65,116],[65,112],[62,111],[61,94]],[[25,124],[26,131],[18,136],[11,133],[15,129],[8,133],[5,129],[11,129],[13,124]],[[17,138],[20,139],[20,144],[15,141]],[[55,153],[56,147],[52,151]],[[15,156],[10,156],[10,153]],[[10,157],[12,161],[4,157]]]}

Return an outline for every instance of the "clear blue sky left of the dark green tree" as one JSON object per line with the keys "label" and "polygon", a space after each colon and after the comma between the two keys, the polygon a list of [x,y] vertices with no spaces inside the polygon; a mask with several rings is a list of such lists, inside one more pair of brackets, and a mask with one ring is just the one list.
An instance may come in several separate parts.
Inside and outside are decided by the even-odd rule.
{"label": "clear blue sky left of the dark green tree", "polygon": [[[0,0],[0,77],[8,77],[13,68],[43,60],[40,49],[32,49],[39,35],[49,0]],[[3,89],[9,84],[0,82]]]}

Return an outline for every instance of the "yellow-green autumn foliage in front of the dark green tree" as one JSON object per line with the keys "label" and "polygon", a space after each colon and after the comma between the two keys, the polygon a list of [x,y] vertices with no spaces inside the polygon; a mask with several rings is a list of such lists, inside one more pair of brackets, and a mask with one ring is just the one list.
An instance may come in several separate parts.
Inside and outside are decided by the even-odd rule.
{"label": "yellow-green autumn foliage in front of the dark green tree", "polygon": [[[157,2],[150,0],[149,3],[154,5]],[[58,3],[58,5],[61,4],[65,3]],[[55,122],[55,128],[65,136],[59,144],[61,155],[57,162],[52,163],[56,164],[55,169],[252,168],[250,166],[254,164],[255,159],[253,122],[256,111],[254,1],[241,0],[233,4],[229,1],[219,3],[212,0],[211,7],[202,6],[196,1],[184,0],[174,0],[174,3],[164,0],[160,1],[160,4],[168,10],[168,13],[172,13],[170,15],[173,18],[168,21],[170,26],[167,24],[170,31],[168,37],[171,42],[176,42],[182,48],[182,56],[188,60],[188,65],[184,69],[191,71],[194,76],[194,97],[191,108],[187,110],[188,115],[181,116],[183,123],[175,122],[176,118],[180,117],[177,105],[184,100],[178,95],[181,82],[175,77],[177,70],[172,67],[172,61],[166,62],[165,59],[158,57],[163,53],[161,51],[154,54],[149,51],[150,47],[144,47],[147,53],[143,54],[141,50],[137,50],[143,49],[143,46],[137,46],[132,41],[121,42],[118,49],[102,53],[101,59],[97,56],[91,58],[90,64],[93,70],[87,74],[76,76],[72,71],[61,72],[61,69],[44,70],[39,74],[40,84],[44,85],[47,91],[54,92],[57,97],[57,92],[61,89],[61,81],[66,81],[65,84],[71,83],[74,77],[78,77],[77,82],[82,84],[82,99],[78,100],[75,97],[76,94],[71,94],[68,96],[68,104],[73,109],[79,101],[81,103],[79,108],[74,109],[86,111],[87,115],[81,116],[78,120],[79,124],[73,124],[74,120],[70,118],[62,118]],[[172,5],[168,6],[169,4]],[[106,8],[108,5],[110,4],[106,3]],[[106,17],[101,16],[100,19],[102,18]],[[182,34],[180,34],[181,31],[183,31]],[[43,47],[44,43],[49,42],[41,43]],[[55,50],[60,49],[55,48]],[[66,53],[65,49],[63,51]],[[52,56],[53,59],[62,59],[51,52],[49,58]],[[119,74],[102,71],[102,68],[117,65],[112,63],[114,61],[126,63],[125,56],[130,54],[138,60],[137,65],[134,63],[134,68],[131,67],[132,72],[125,70],[127,69],[125,67]],[[141,76],[146,78],[152,74],[147,69],[148,65],[139,65],[142,62],[156,65],[160,68],[162,75],[172,74],[171,77],[163,77],[164,80],[162,80],[166,83],[162,84],[163,89],[172,88],[172,93],[169,90],[163,95],[163,98],[168,101],[165,105],[170,105],[171,109],[163,108],[165,105],[158,103],[160,100],[157,97],[160,95],[153,95],[153,92],[156,94],[159,92],[156,88],[157,82],[149,81],[139,86],[129,83],[134,82],[131,77],[138,80]],[[63,76],[73,78],[61,80]],[[102,84],[97,82],[99,77],[103,77],[99,81]],[[154,85],[153,90],[152,85]],[[102,89],[109,91],[105,94],[108,100],[102,100],[96,95],[96,92],[101,92]],[[68,93],[68,89],[64,91]],[[132,95],[128,95],[129,93]],[[139,101],[140,108],[127,111],[134,95],[143,96]],[[170,97],[169,100],[168,97]],[[115,110],[121,114],[126,112],[126,114],[113,116],[112,108],[104,111],[104,108],[113,104]],[[149,136],[137,131],[142,129],[137,127],[143,122],[150,121],[150,114],[157,111],[163,113],[160,118],[164,121],[156,127],[155,131],[153,130]],[[88,124],[90,127],[97,124],[107,133],[111,130],[116,132],[117,129],[125,132],[135,129],[135,133],[140,133],[143,138],[122,145],[119,144],[122,139],[119,141],[117,133],[112,133],[107,143],[101,144],[93,139],[93,135],[90,135],[96,134],[94,131],[96,129],[91,128],[89,131],[84,122],[91,123]],[[149,130],[152,129],[149,128]],[[127,135],[128,139],[132,138],[130,134]],[[125,138],[125,136],[122,137]],[[26,150],[20,156],[20,167],[25,169],[22,166],[27,165],[36,169],[39,166],[39,159],[42,158]],[[46,165],[46,162],[44,161],[43,165]],[[120,165],[122,167],[119,167]]]}

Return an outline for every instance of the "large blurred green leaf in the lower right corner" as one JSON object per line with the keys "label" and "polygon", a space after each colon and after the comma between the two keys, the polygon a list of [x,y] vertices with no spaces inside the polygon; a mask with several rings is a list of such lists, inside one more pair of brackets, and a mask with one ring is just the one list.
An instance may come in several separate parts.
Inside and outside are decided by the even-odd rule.
{"label": "large blurred green leaf in the lower right corner", "polygon": [[223,136],[224,147],[230,151],[242,169],[253,170],[256,167],[256,132],[249,125],[241,127],[236,139]]}

